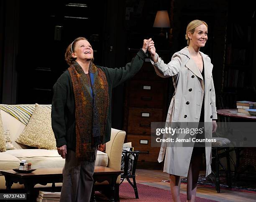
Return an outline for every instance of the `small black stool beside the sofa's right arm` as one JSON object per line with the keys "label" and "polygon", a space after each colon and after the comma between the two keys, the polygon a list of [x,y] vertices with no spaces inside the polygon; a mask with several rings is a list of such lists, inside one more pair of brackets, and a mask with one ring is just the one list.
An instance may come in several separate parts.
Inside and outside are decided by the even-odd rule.
{"label": "small black stool beside the sofa's right arm", "polygon": [[[123,151],[122,152],[122,161],[121,161],[121,170],[123,170],[123,174],[121,174],[121,182],[126,178],[126,180],[130,183],[130,185],[134,189],[135,197],[138,199],[138,190],[135,180],[135,171],[136,165],[138,161],[138,155],[140,151],[132,152],[132,151]],[[130,178],[133,178],[133,183]]]}

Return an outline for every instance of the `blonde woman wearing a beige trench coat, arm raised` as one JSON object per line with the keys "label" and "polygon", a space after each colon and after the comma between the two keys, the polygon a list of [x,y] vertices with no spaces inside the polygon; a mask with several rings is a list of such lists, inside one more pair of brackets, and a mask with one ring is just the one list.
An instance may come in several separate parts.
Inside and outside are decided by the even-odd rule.
{"label": "blonde woman wearing a beige trench coat, arm raised", "polygon": [[[186,31],[188,46],[174,53],[168,64],[156,53],[154,43],[148,46],[148,50],[157,75],[173,78],[175,93],[166,122],[212,122],[211,136],[211,132],[217,128],[213,66],[210,57],[199,51],[207,41],[207,28],[204,21],[189,22]],[[204,147],[173,147],[167,143],[161,145],[159,162],[163,161],[166,154],[164,172],[170,174],[172,198],[175,202],[180,201],[180,176],[187,177],[187,201],[195,201],[202,152],[205,152],[206,157],[206,176],[211,173],[211,145],[206,144]]]}

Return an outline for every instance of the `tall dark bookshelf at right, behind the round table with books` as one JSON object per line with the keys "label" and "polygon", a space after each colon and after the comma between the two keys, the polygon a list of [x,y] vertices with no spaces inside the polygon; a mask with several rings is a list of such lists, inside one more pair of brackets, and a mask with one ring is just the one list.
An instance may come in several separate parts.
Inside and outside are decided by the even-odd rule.
{"label": "tall dark bookshelf at right, behind the round table with books", "polygon": [[255,22],[251,12],[239,16],[233,12],[228,13],[223,92],[243,96],[243,89],[252,85]]}

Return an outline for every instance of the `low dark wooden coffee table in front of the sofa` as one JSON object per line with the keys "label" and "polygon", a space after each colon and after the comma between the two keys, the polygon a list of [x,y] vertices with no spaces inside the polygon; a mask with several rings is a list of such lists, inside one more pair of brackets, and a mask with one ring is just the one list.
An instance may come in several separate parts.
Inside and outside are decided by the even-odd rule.
{"label": "low dark wooden coffee table in front of the sofa", "polygon": [[[1,170],[1,174],[5,176],[6,189],[10,190],[13,183],[20,183],[24,185],[27,201],[30,201],[31,192],[36,184],[46,185],[52,183],[52,187],[55,187],[55,183],[62,182],[62,168],[48,168],[37,169],[31,173],[18,173],[13,170]],[[115,184],[117,177],[121,174],[120,170],[113,170],[111,168],[96,166],[93,174],[94,182],[103,182],[107,180],[111,186],[111,202],[115,201]],[[94,193],[93,195],[94,196]]]}

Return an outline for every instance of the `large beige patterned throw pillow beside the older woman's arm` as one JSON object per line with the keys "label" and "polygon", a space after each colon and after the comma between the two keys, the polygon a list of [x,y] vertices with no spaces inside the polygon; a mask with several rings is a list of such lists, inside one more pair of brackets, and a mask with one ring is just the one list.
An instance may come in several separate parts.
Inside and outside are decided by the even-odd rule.
{"label": "large beige patterned throw pillow beside the older woman's arm", "polygon": [[51,110],[36,103],[35,111],[28,125],[15,141],[38,149],[57,149],[54,132],[51,128]]}

